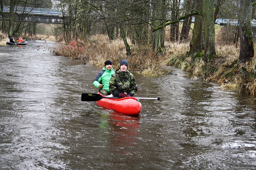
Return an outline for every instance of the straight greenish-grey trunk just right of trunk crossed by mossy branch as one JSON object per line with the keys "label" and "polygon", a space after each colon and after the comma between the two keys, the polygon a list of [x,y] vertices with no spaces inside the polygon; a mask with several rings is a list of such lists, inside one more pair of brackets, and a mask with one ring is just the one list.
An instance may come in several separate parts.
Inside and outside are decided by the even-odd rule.
{"label": "straight greenish-grey trunk just right of trunk crossed by mossy branch", "polygon": [[204,58],[215,55],[214,6],[212,0],[203,0]]}

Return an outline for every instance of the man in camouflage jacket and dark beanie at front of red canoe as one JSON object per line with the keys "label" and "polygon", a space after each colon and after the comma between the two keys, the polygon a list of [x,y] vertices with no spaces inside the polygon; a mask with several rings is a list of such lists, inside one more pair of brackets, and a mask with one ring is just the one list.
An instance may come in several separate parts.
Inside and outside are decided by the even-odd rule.
{"label": "man in camouflage jacket and dark beanie at front of red canoe", "polygon": [[135,77],[127,68],[128,61],[121,60],[119,70],[116,70],[109,81],[109,91],[115,97],[132,97],[137,91]]}

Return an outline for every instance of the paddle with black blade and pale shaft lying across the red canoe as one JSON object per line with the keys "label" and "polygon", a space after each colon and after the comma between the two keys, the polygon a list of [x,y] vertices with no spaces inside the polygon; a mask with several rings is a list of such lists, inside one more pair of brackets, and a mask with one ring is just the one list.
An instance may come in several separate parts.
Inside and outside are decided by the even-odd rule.
{"label": "paddle with black blade and pale shaft lying across the red canoe", "polygon": [[[81,101],[87,101],[87,102],[93,102],[93,101],[99,101],[100,99],[109,98],[109,99],[119,99],[119,97],[103,97],[97,93],[82,93]],[[154,99],[154,100],[160,100],[160,97],[157,98],[151,98],[151,97],[134,97],[136,99]]]}

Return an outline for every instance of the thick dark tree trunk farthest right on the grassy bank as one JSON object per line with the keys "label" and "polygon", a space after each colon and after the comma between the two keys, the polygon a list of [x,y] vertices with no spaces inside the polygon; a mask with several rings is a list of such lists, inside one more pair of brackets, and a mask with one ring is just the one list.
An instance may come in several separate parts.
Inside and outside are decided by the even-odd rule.
{"label": "thick dark tree trunk farthest right on the grassy bank", "polygon": [[247,62],[254,55],[252,39],[252,0],[241,0],[240,4],[240,54],[239,61]]}

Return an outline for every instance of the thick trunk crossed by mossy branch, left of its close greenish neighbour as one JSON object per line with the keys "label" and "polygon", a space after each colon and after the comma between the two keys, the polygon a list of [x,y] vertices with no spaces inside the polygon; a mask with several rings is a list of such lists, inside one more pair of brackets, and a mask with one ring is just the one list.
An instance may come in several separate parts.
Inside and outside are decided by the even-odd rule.
{"label": "thick trunk crossed by mossy branch, left of its close greenish neighbour", "polygon": [[[203,0],[196,0],[196,11],[202,11]],[[193,35],[190,42],[190,53],[198,53],[203,51],[203,17],[201,15],[195,16],[195,25]]]}

